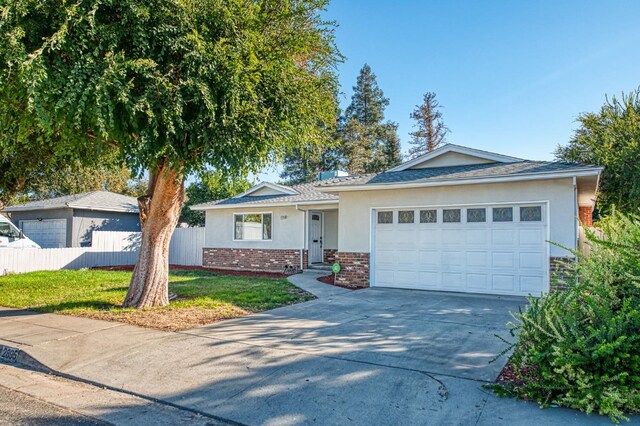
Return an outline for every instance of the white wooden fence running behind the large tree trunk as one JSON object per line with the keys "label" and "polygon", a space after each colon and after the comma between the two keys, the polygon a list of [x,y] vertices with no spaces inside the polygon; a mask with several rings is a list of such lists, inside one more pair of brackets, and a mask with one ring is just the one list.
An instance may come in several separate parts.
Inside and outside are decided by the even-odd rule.
{"label": "white wooden fence running behind the large tree trunk", "polygon": [[[91,247],[0,249],[0,275],[15,272],[133,265],[138,259],[139,232],[95,231]],[[169,245],[172,265],[202,265],[204,228],[177,228]]]}

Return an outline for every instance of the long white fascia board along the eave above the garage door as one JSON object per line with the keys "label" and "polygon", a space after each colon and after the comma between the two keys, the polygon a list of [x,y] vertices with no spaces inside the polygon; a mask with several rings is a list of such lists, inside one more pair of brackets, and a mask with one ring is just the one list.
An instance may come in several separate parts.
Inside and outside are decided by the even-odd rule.
{"label": "long white fascia board along the eave above the garage door", "polygon": [[451,179],[451,180],[431,180],[427,182],[409,182],[409,183],[379,183],[364,185],[343,185],[343,186],[327,186],[317,187],[316,190],[325,193],[346,192],[346,191],[373,191],[378,189],[405,189],[405,188],[424,188],[431,186],[453,186],[453,185],[474,185],[482,183],[502,183],[502,182],[523,182],[531,180],[549,180],[561,179],[578,176],[599,176],[603,167],[582,170],[579,172],[549,172],[535,173],[520,176],[498,176],[489,178],[472,178],[472,179]]}

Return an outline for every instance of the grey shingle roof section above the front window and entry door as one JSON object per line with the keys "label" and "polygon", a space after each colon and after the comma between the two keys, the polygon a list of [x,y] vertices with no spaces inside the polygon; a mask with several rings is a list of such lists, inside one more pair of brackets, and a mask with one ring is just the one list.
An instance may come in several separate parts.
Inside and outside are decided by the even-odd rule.
{"label": "grey shingle roof section above the front window and entry door", "polygon": [[196,204],[192,208],[199,210],[202,208],[212,206],[226,206],[226,205],[249,205],[249,206],[261,206],[274,203],[295,204],[304,203],[308,201],[327,201],[335,202],[338,200],[337,195],[327,194],[324,192],[316,191],[315,183],[303,183],[294,186],[278,185],[283,189],[294,190],[296,194],[276,194],[276,195],[255,195],[245,196],[240,198],[227,198],[226,200],[211,201],[203,204]]}

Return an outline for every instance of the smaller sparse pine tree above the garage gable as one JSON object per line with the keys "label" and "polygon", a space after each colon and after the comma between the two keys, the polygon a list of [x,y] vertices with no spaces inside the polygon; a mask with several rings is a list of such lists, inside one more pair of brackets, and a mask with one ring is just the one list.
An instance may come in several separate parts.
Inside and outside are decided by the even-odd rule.
{"label": "smaller sparse pine tree above the garage gable", "polygon": [[433,151],[446,141],[449,129],[442,121],[442,107],[436,100],[436,94],[427,92],[424,94],[422,105],[416,105],[411,113],[411,118],[416,120],[416,130],[411,132],[411,144],[409,157],[416,158]]}

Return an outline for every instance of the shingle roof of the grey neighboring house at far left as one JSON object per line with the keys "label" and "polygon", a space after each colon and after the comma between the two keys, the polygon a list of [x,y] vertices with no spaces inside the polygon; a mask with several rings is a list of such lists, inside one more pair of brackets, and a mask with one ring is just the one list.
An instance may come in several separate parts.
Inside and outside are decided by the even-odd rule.
{"label": "shingle roof of the grey neighboring house at far left", "polygon": [[109,191],[93,191],[82,194],[65,195],[47,200],[31,201],[25,204],[9,206],[3,211],[18,212],[30,210],[48,210],[59,208],[77,208],[138,213],[138,200]]}

